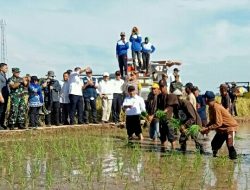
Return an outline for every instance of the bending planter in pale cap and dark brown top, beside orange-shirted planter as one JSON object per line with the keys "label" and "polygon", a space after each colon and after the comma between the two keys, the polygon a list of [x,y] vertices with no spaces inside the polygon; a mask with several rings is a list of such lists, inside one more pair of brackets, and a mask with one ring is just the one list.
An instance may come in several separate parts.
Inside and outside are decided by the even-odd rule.
{"label": "bending planter in pale cap and dark brown top, beside orange-shirted planter", "polygon": [[187,150],[187,140],[190,135],[192,139],[194,139],[196,149],[200,151],[201,154],[204,153],[203,145],[198,141],[198,133],[188,133],[190,128],[194,125],[202,126],[201,119],[193,105],[188,101],[182,99],[182,92],[180,90],[175,90],[173,92],[178,97],[178,106],[177,109],[174,110],[175,117],[179,118],[181,126],[180,126],[180,138],[179,143],[181,146],[181,150],[185,153]]}

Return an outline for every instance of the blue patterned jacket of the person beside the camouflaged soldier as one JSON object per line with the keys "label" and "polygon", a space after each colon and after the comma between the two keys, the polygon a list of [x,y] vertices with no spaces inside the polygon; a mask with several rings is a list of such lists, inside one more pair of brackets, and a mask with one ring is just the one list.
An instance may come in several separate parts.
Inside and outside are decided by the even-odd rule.
{"label": "blue patterned jacket of the person beside the camouflaged soldier", "polygon": [[30,107],[40,107],[43,105],[42,89],[39,84],[30,83],[28,87]]}

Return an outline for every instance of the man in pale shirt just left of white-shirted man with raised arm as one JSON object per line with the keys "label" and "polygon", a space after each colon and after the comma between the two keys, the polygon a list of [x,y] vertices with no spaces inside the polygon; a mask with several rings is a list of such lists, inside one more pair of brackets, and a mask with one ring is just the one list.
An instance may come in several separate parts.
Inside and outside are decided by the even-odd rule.
{"label": "man in pale shirt just left of white-shirted man with raised arm", "polygon": [[59,81],[61,85],[60,91],[60,122],[63,125],[69,125],[68,117],[70,110],[69,101],[69,73],[63,73],[63,80]]}

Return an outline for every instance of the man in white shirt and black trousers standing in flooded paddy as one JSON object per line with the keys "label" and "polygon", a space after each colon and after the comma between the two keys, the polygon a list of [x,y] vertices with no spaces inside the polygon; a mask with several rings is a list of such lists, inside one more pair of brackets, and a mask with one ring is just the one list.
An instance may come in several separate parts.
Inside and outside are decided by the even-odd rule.
{"label": "man in white shirt and black trousers standing in flooded paddy", "polygon": [[129,96],[124,99],[123,109],[126,113],[126,129],[128,134],[128,139],[133,139],[133,134],[143,140],[140,114],[145,112],[145,102],[142,97],[138,96],[135,92],[134,86],[128,87]]}

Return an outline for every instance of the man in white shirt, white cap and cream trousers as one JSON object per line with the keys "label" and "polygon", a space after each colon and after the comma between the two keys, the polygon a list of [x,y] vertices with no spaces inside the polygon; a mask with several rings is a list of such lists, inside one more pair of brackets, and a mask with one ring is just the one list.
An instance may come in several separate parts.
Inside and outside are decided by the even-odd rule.
{"label": "man in white shirt, white cap and cream trousers", "polygon": [[103,73],[103,80],[99,82],[98,90],[102,99],[102,123],[108,123],[113,99],[112,83],[109,80],[109,73]]}

